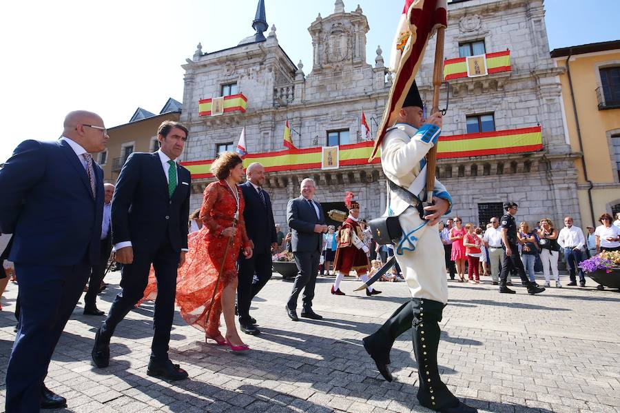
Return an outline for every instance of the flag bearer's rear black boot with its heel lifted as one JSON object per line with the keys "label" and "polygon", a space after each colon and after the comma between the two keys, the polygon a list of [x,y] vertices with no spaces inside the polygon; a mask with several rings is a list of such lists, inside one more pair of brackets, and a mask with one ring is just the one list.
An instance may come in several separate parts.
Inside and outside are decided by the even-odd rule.
{"label": "flag bearer's rear black boot with its heel lifted", "polygon": [[392,345],[400,334],[411,328],[412,322],[413,310],[411,300],[409,300],[397,308],[379,330],[362,339],[366,352],[373,358],[377,369],[387,381],[393,380],[387,367],[391,363]]}

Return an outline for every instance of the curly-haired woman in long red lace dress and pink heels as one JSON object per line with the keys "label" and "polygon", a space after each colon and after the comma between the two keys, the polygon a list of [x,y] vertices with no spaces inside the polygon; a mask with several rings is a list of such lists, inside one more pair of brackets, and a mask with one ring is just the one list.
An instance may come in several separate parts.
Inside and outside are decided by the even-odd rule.
{"label": "curly-haired woman in long red lace dress and pink heels", "polygon": [[[236,262],[240,250],[250,258],[253,247],[245,232],[245,202],[237,187],[243,179],[242,160],[234,152],[223,152],[211,164],[210,172],[218,181],[205,188],[200,208],[203,228],[188,236],[189,251],[176,281],[176,303],[183,319],[204,331],[207,339],[234,351],[249,350],[235,325]],[[153,298],[153,289],[149,283],[145,298]],[[222,313],[225,336],[219,330]]]}

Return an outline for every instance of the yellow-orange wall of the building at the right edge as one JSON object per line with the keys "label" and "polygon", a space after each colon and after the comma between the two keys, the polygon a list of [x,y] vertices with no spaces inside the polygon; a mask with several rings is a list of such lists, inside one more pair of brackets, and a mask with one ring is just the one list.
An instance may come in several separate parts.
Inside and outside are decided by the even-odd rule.
{"label": "yellow-orange wall of the building at the right edge", "polygon": [[[557,58],[556,62],[557,66],[566,68],[566,57]],[[590,192],[595,219],[598,219],[603,212],[611,212],[610,205],[620,200],[620,183],[618,183],[616,165],[612,162],[608,141],[609,131],[620,130],[620,109],[599,110],[598,108],[596,89],[600,86],[599,64],[601,63],[614,63],[614,66],[620,66],[620,50],[576,54],[570,59],[570,75],[581,128],[583,157],[586,162],[588,179],[595,185]],[[561,74],[560,81],[570,146],[574,152],[579,152],[577,123],[570,94],[568,71]],[[578,182],[581,184],[578,197],[583,225],[599,225],[598,222],[593,223],[590,219],[588,190],[583,189],[582,186],[588,184],[584,178],[581,159],[575,160],[575,168]]]}

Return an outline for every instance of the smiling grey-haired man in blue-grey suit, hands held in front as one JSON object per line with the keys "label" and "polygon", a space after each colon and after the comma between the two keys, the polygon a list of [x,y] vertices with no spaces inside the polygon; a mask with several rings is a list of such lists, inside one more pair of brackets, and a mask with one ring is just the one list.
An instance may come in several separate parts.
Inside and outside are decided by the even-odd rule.
{"label": "smiling grey-haired man in blue-grey suit, hands held in front", "polygon": [[293,284],[293,292],[289,297],[286,310],[289,318],[298,321],[297,297],[304,289],[301,316],[307,319],[320,320],[323,317],[312,310],[314,285],[318,274],[318,266],[323,247],[323,232],[327,232],[325,216],[321,205],[313,201],[316,185],[306,178],[300,185],[301,196],[289,200],[287,205],[287,221],[293,232],[291,248],[298,273]]}

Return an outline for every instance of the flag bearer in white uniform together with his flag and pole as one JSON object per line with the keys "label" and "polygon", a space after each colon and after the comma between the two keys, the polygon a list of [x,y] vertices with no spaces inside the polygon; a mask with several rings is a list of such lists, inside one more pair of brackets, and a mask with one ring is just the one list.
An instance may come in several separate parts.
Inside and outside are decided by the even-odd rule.
{"label": "flag bearer in white uniform together with his flag and pole", "polygon": [[[444,247],[435,225],[442,215],[450,212],[452,200],[444,185],[435,179],[433,188],[428,188],[432,190],[433,205],[422,208],[420,201],[427,193],[425,166],[431,159],[424,157],[437,144],[442,114],[435,112],[424,119],[424,105],[414,79],[428,38],[439,28],[435,57],[435,77],[439,80],[435,82],[433,104],[436,106],[442,81],[441,72],[437,70],[440,70],[443,60],[446,21],[446,1],[407,0],[397,31],[393,57],[396,56],[398,62],[391,65],[396,69],[396,74],[375,139],[373,156],[380,147],[381,165],[388,183],[384,216],[398,216],[402,236],[395,243],[395,256],[412,298],[403,303],[377,332],[364,338],[364,348],[382,376],[391,381],[388,365],[393,342],[413,327],[413,350],[419,377],[417,399],[420,404],[437,412],[475,413],[477,410],[474,407],[462,403],[448,390],[437,368],[439,322],[448,302],[448,283]],[[429,170],[434,171],[434,166]]]}

